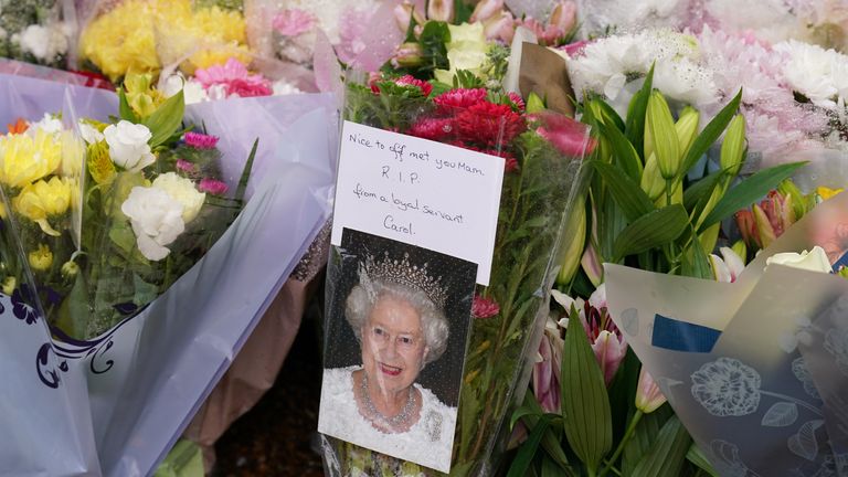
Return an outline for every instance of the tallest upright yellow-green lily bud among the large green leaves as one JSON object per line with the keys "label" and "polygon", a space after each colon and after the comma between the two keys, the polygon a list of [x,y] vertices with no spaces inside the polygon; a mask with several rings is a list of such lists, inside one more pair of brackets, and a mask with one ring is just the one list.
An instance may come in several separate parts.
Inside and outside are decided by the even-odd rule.
{"label": "tallest upright yellow-green lily bud among the large green leaves", "polygon": [[674,179],[680,169],[680,141],[675,130],[675,120],[665,96],[653,92],[648,98],[645,144],[657,155],[657,166],[662,179]]}

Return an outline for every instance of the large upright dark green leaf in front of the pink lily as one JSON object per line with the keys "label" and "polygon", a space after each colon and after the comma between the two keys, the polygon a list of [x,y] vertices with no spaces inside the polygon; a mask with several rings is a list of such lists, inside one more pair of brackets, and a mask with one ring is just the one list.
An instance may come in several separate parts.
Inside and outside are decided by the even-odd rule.
{"label": "large upright dark green leaf in front of the pink lily", "polygon": [[590,468],[597,469],[613,446],[613,423],[604,377],[589,343],[580,314],[571,312],[570,332],[562,350],[563,427],[574,454]]}

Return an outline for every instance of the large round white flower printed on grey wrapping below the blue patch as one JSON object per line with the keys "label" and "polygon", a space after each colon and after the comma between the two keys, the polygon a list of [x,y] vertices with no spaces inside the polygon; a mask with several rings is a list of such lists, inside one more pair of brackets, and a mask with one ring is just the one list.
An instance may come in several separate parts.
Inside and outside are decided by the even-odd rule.
{"label": "large round white flower printed on grey wrapping below the blue patch", "polygon": [[760,373],[740,360],[719,358],[691,378],[692,396],[714,416],[743,416],[760,406]]}

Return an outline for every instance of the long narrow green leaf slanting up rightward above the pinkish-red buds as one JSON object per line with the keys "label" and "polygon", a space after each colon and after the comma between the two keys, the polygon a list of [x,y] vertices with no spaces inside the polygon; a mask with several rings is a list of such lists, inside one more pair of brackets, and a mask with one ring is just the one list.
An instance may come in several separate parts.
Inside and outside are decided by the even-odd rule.
{"label": "long narrow green leaf slanting up rightward above the pinkish-red buds", "polygon": [[721,222],[741,209],[745,209],[757,199],[767,194],[768,191],[776,188],[784,179],[789,178],[795,171],[806,162],[791,162],[773,168],[763,169],[742,182],[730,189],[723,198],[716,204],[716,208],[707,215],[701,224],[699,232],[707,230],[710,225]]}

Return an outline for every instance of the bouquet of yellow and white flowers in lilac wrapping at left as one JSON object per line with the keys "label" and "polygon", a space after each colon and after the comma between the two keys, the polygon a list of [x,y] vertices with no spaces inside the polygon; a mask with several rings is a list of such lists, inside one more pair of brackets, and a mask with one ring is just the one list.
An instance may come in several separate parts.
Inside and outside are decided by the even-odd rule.
{"label": "bouquet of yellow and white flowers in lilac wrapping at left", "polygon": [[0,474],[147,475],[327,220],[332,99],[0,84]]}

